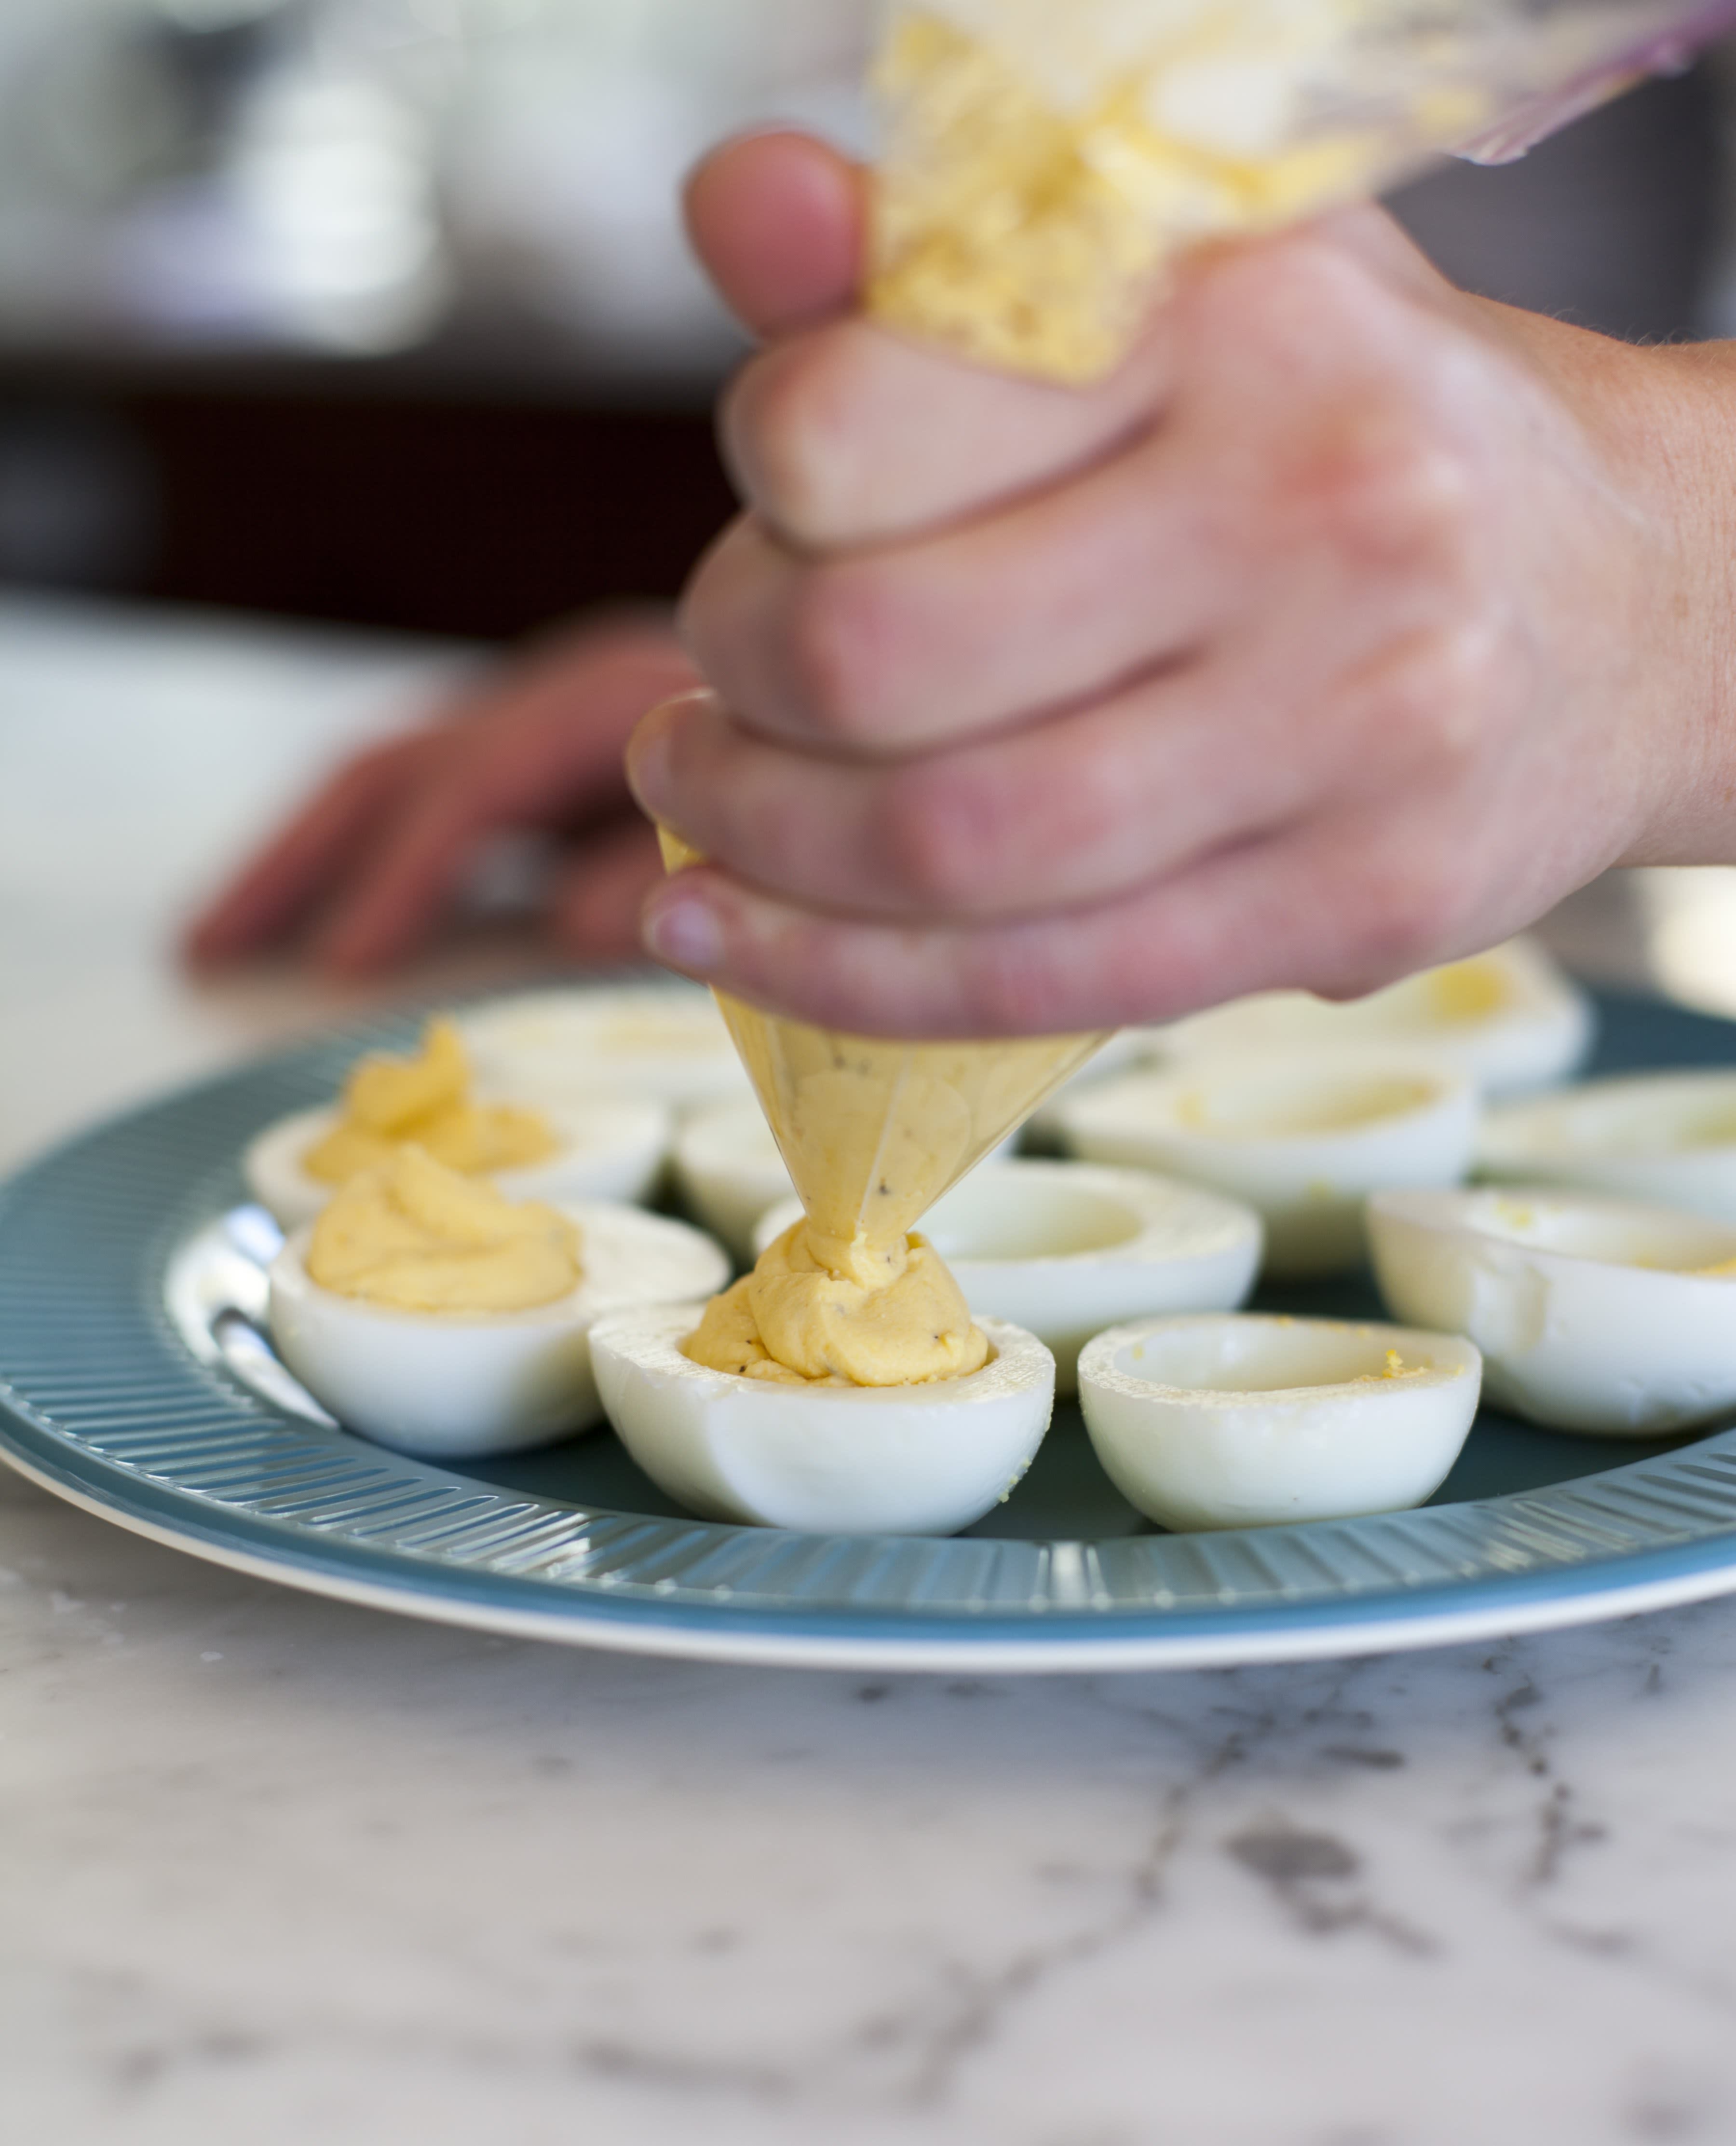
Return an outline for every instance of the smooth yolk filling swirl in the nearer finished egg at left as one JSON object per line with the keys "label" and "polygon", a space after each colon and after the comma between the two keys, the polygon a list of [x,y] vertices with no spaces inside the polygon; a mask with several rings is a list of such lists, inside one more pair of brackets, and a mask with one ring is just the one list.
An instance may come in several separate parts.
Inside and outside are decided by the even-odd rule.
{"label": "smooth yolk filling swirl in the nearer finished egg at left", "polygon": [[322,1290],[393,1311],[536,1311],[584,1279],[579,1232],[541,1202],[513,1202],[418,1146],[339,1191],[307,1247]]}

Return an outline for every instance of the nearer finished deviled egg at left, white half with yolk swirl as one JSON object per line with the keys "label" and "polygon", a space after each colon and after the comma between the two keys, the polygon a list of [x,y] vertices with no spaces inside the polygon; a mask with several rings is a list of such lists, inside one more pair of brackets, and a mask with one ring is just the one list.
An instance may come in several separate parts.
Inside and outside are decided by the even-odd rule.
{"label": "nearer finished deviled egg at left, white half with yolk swirl", "polygon": [[723,1285],[721,1247],[605,1202],[513,1202],[416,1146],[352,1178],[270,1266],[277,1354],[352,1431],[421,1459],[601,1421],[590,1331]]}

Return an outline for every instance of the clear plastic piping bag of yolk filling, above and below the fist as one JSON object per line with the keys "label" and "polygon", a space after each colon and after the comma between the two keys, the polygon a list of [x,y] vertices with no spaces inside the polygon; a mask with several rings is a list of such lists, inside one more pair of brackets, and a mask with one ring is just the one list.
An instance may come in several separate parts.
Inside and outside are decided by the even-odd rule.
{"label": "clear plastic piping bag of yolk filling, above and below the fist", "polygon": [[[1736,0],[891,0],[869,311],[1088,382],[1191,247],[1506,161],[1736,24]],[[700,863],[667,831],[665,865]],[[809,1217],[912,1230],[1107,1034],[897,1043],[719,994]]]}

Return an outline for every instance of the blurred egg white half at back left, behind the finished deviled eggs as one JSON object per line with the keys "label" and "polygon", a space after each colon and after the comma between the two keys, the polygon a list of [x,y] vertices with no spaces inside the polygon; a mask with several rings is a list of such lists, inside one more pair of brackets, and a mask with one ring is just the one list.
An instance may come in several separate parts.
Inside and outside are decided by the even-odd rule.
{"label": "blurred egg white half at back left, behind the finished deviled eggs", "polygon": [[457,1015],[476,1084],[536,1107],[597,1090],[676,1109],[749,1094],[710,991],[624,983],[517,991]]}

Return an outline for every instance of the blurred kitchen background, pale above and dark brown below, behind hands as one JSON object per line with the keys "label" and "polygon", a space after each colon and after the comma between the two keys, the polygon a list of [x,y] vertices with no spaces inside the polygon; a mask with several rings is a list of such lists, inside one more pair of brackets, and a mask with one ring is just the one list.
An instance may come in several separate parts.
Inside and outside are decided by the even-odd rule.
{"label": "blurred kitchen background, pale above and dark brown below, behind hands", "polygon": [[[860,146],[869,0],[0,0],[0,584],[506,637],[674,592],[738,354],[674,202]],[[1399,210],[1620,335],[1736,318],[1719,67]]]}

